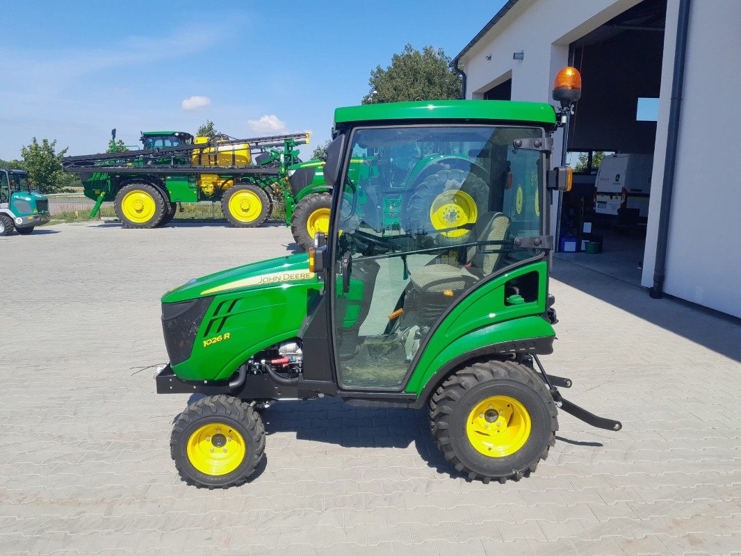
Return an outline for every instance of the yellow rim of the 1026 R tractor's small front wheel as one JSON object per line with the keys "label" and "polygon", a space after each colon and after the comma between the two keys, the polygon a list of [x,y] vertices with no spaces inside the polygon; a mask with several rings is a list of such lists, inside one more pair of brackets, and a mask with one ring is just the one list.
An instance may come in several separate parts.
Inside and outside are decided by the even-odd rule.
{"label": "yellow rim of the 1026 R tractor's small front wheel", "polygon": [[203,474],[231,473],[245,459],[245,439],[224,423],[204,425],[187,440],[187,459]]}

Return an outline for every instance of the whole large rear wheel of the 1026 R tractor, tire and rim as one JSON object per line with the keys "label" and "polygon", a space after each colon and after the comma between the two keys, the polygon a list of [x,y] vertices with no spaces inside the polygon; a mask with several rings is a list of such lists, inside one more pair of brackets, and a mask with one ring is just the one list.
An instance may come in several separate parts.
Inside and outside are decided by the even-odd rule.
{"label": "whole large rear wheel of the 1026 R tractor, tire and rim", "polygon": [[512,361],[462,368],[437,389],[430,408],[437,446],[469,480],[527,477],[556,441],[551,392],[534,371]]}

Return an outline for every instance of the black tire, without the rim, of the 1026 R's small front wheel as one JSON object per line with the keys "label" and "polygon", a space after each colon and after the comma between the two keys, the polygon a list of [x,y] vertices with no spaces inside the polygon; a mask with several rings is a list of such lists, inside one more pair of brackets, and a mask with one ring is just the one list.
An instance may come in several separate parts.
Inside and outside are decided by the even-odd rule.
{"label": "black tire, without the rim, of the 1026 R's small front wheel", "polygon": [[[188,455],[190,438],[196,435],[199,429],[211,424],[227,427],[223,434],[213,436],[211,452],[216,449],[226,451],[227,446],[233,441],[239,443],[236,437],[232,439],[230,436],[234,431],[239,433],[242,439],[244,448],[242,460],[236,469],[225,474],[207,474],[199,471]],[[247,403],[236,397],[208,396],[190,404],[176,420],[170,436],[170,455],[175,460],[180,476],[189,485],[199,488],[227,489],[244,483],[253,474],[264,454],[265,427],[262,425],[262,418]],[[218,457],[214,459],[218,460]]]}

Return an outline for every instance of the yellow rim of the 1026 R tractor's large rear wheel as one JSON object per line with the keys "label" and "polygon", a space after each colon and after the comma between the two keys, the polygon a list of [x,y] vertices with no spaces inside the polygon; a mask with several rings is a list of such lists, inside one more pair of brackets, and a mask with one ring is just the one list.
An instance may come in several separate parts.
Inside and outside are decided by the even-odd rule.
{"label": "yellow rim of the 1026 R tractor's large rear wheel", "polygon": [[525,446],[532,422],[528,410],[514,397],[491,396],[473,408],[466,434],[476,451],[489,457],[505,457]]}

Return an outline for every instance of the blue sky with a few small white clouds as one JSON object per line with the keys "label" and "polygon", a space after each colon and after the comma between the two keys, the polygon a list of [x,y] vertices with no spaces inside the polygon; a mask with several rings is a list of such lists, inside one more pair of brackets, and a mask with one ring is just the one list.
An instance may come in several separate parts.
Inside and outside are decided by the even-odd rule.
{"label": "blue sky with a few small white clouds", "polygon": [[0,158],[33,136],[85,154],[111,128],[135,145],[142,130],[194,133],[207,119],[237,137],[311,130],[308,158],[376,64],[407,42],[455,56],[502,4],[6,1]]}

